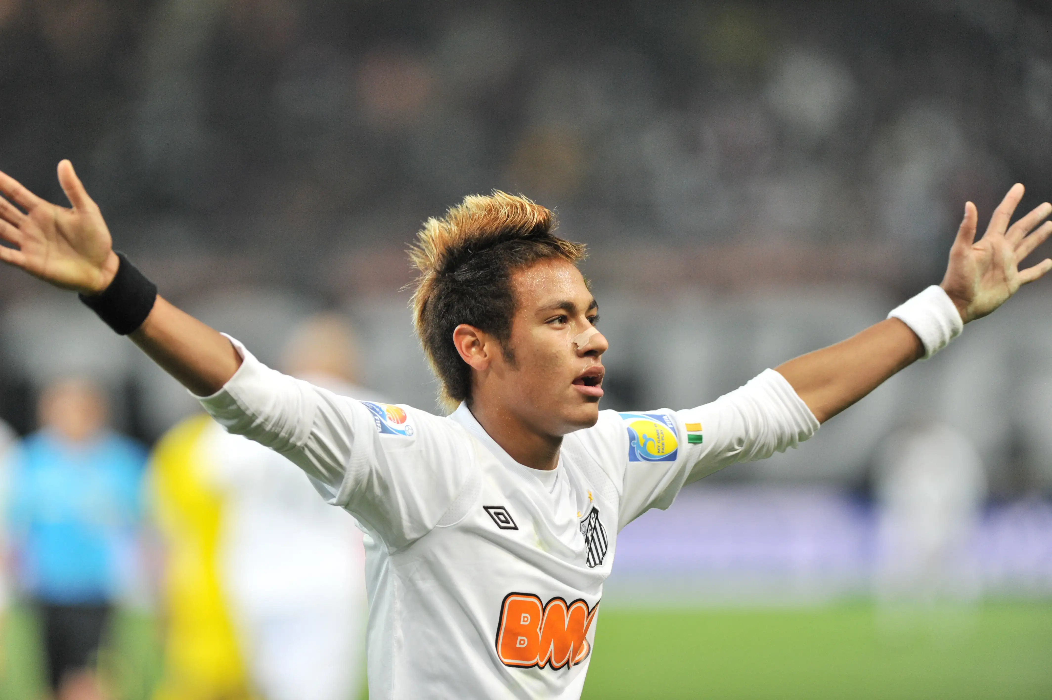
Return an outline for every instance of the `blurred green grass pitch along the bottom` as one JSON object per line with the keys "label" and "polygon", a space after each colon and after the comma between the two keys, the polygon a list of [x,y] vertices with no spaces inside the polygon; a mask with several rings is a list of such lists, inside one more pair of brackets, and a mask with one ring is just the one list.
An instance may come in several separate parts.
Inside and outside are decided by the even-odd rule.
{"label": "blurred green grass pitch along the bottom", "polygon": [[[122,616],[113,664],[121,700],[145,700],[157,673],[147,620]],[[16,612],[3,700],[37,700],[31,625]],[[879,632],[858,603],[800,611],[605,611],[584,697],[1052,698],[1052,603],[999,602],[971,621]]]}

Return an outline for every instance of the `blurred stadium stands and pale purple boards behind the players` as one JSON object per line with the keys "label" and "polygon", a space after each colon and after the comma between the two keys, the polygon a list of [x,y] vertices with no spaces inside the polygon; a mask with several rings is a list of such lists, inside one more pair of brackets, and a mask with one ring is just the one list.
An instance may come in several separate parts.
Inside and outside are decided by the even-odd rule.
{"label": "blurred stadium stands and pale purple boards behind the players", "polygon": [[[465,194],[523,193],[591,248],[604,407],[683,407],[937,283],[966,200],[985,225],[1013,182],[1023,209],[1052,198],[1052,8],[0,0],[0,169],[64,201],[70,158],[166,297],[271,364],[335,314],[356,329],[344,379],[422,408],[404,251]],[[1047,601],[1050,319],[1041,281],[794,453],[646,516],[605,604],[861,596],[894,626],[891,600]],[[9,269],[0,358],[20,436],[69,378],[144,447],[197,411],[75,298]],[[163,617],[147,579],[128,604]]]}

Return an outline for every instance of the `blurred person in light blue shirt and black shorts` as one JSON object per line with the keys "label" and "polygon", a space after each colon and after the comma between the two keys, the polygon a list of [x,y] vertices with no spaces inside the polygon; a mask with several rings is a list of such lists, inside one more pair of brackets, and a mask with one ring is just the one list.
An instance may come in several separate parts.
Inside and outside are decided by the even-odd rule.
{"label": "blurred person in light blue shirt and black shorts", "polygon": [[129,580],[146,452],[106,427],[102,389],[48,385],[40,429],[14,453],[7,528],[17,589],[40,616],[47,679],[58,700],[101,700],[99,646]]}

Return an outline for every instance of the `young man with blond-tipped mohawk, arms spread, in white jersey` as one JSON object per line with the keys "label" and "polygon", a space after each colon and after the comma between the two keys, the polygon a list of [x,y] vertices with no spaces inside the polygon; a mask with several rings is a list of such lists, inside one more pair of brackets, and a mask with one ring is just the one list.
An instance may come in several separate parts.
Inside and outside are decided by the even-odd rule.
{"label": "young man with blond-tipped mohawk, arms spread, in white jersey", "polygon": [[[429,219],[412,252],[417,333],[439,418],[336,396],[261,364],[157,295],[115,254],[68,161],[72,208],[0,174],[0,259],[75,289],[229,432],[303,468],[368,535],[369,697],[576,698],[618,532],[685,483],[806,440],[965,323],[1052,268],[1013,225],[1013,186],[974,241],[969,202],[946,276],[889,318],[696,408],[600,412],[606,339],[551,213],[494,193]],[[12,203],[13,202],[13,203]],[[17,205],[17,206],[16,206]]]}

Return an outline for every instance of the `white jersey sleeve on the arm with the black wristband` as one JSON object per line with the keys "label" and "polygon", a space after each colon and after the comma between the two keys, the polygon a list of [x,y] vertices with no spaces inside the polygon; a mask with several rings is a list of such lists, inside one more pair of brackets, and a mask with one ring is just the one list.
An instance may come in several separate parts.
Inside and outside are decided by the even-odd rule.
{"label": "white jersey sleeve on the arm with the black wristband", "polygon": [[201,404],[227,432],[300,466],[326,500],[390,549],[426,535],[460,495],[472,463],[458,426],[404,405],[357,401],[243,361]]}

